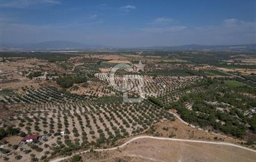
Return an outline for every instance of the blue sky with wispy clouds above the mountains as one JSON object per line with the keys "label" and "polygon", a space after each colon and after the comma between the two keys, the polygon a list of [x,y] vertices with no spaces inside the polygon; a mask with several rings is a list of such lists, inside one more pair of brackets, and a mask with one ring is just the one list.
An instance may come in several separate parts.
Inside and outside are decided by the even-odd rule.
{"label": "blue sky with wispy clouds above the mountains", "polygon": [[256,43],[255,0],[0,0],[2,43],[88,45]]}

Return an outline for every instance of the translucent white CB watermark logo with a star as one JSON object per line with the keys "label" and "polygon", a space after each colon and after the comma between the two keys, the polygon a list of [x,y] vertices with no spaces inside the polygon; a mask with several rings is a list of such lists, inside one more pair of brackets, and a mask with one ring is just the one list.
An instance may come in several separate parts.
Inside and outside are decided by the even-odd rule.
{"label": "translucent white CB watermark logo with a star", "polygon": [[[119,86],[116,84],[116,72],[117,70],[126,70],[128,72],[132,71],[144,71],[144,66],[141,61],[139,64],[134,65],[136,68],[134,69],[132,66],[126,63],[120,63],[115,65],[110,73],[109,73],[109,81],[111,86],[117,91],[123,93],[123,102],[141,102],[145,99],[145,92],[144,92],[144,76],[140,74],[124,74],[122,76],[122,85]],[[137,84],[135,84],[137,83]],[[129,92],[139,92],[139,97],[129,98]]]}

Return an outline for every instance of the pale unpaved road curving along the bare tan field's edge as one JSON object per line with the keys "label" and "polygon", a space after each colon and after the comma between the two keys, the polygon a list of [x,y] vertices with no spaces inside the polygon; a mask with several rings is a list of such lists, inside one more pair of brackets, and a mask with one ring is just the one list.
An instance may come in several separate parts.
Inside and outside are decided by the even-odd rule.
{"label": "pale unpaved road curving along the bare tan field's edge", "polygon": [[[182,139],[176,139],[176,138],[162,138],[162,137],[150,137],[150,136],[140,136],[140,137],[134,137],[132,139],[130,139],[129,141],[127,141],[126,143],[120,145],[120,146],[116,146],[113,148],[107,148],[107,149],[95,149],[94,151],[111,151],[111,150],[117,150],[119,148],[123,148],[124,146],[128,145],[131,142],[134,142],[135,140],[139,140],[142,138],[152,138],[152,139],[156,139],[156,140],[170,140],[170,141],[175,141],[175,142],[194,142],[194,143],[207,143],[207,144],[213,144],[213,145],[225,145],[225,146],[234,146],[236,148],[241,148],[244,150],[248,150],[248,151],[252,151],[254,153],[256,153],[256,150],[252,150],[250,148],[246,148],[244,146],[240,146],[240,145],[235,145],[232,143],[226,143],[226,142],[207,142],[207,141],[200,141],[200,140],[182,140]],[[86,151],[82,151],[81,153],[87,153],[89,152],[89,150]],[[76,153],[79,154],[79,153]],[[56,158],[54,160],[51,160],[51,162],[59,162],[62,160],[67,160],[69,158],[71,158],[72,156],[67,156],[64,158]]]}

